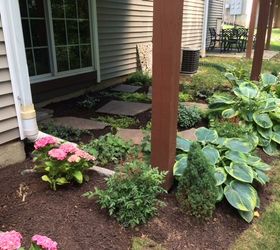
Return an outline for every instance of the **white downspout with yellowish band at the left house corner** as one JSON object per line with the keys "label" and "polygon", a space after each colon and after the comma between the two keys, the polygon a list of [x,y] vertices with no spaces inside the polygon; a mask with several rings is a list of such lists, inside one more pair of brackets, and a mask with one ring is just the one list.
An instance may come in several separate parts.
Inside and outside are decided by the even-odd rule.
{"label": "white downspout with yellowish band at the left house corner", "polygon": [[38,139],[18,0],[0,0],[0,14],[21,139]]}

